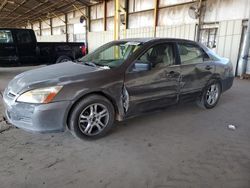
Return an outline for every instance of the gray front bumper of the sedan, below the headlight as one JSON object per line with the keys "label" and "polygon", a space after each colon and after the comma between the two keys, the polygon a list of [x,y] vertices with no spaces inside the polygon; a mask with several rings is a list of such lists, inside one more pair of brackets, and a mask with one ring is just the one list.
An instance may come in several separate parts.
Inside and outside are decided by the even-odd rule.
{"label": "gray front bumper of the sedan, below the headlight", "polygon": [[8,122],[18,128],[35,132],[65,130],[70,101],[29,104],[16,102],[6,94],[3,101]]}

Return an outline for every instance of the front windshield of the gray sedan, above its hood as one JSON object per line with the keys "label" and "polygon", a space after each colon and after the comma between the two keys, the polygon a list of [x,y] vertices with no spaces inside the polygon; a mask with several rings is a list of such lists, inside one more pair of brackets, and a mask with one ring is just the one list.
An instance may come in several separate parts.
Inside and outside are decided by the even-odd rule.
{"label": "front windshield of the gray sedan, above its hood", "polygon": [[139,42],[108,43],[78,61],[90,66],[114,68],[120,66],[140,46]]}

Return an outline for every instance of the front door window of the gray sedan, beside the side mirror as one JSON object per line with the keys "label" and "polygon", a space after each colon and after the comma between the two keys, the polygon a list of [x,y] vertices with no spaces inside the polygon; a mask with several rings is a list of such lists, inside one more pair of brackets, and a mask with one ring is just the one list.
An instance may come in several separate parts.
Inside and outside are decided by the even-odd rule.
{"label": "front door window of the gray sedan, beside the side mirror", "polygon": [[[133,72],[151,70],[173,65],[175,63],[174,48],[171,43],[158,44],[148,49],[134,63]],[[143,68],[144,67],[144,68]]]}

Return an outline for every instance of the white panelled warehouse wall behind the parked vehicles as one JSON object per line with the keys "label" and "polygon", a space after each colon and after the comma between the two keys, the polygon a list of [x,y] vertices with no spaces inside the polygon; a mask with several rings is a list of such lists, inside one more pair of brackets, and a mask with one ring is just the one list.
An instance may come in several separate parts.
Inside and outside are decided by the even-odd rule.
{"label": "white panelled warehouse wall behind the parked vehicles", "polygon": [[[121,31],[121,38],[153,37],[153,0],[129,0],[129,29]],[[194,2],[194,0],[160,0],[158,26],[156,28],[157,37],[184,38],[195,40],[196,24],[198,20],[192,19],[188,15],[191,4],[165,7],[168,5],[184,2]],[[229,58],[234,68],[237,65],[239,47],[242,35],[242,22],[248,18],[250,0],[207,0],[204,1],[205,11],[204,24],[216,23],[218,27],[216,52]],[[122,0],[124,6],[124,0]],[[103,31],[103,3],[91,7],[91,32],[88,32],[89,51],[113,40],[114,29],[114,0],[107,2],[107,31]],[[139,12],[145,10],[146,12]],[[86,13],[85,9],[81,10]],[[80,11],[68,13],[69,41],[85,41],[85,25],[82,32],[76,32],[75,25],[79,24]],[[60,16],[63,20],[64,15]],[[33,29],[37,34],[38,41],[66,41],[64,22],[58,18],[53,18],[53,35],[50,36],[49,20],[42,22],[42,36],[38,23],[33,24]],[[30,26],[29,26],[30,27]]]}

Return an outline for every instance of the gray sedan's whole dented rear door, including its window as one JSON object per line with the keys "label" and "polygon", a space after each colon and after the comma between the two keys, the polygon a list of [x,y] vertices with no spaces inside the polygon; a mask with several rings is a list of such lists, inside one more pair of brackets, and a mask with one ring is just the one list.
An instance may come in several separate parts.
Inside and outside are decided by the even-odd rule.
{"label": "gray sedan's whole dented rear door, including its window", "polygon": [[178,43],[181,67],[180,100],[196,99],[211,80],[215,64],[206,52],[193,42]]}

